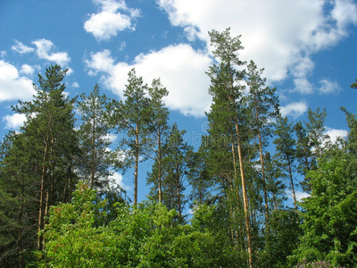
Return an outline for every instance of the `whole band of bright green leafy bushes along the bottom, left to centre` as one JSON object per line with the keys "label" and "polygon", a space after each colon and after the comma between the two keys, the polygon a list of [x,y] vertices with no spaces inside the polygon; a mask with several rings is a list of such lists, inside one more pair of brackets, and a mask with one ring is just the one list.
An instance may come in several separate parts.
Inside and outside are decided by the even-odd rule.
{"label": "whole band of bright green leafy bushes along the bottom, left to centre", "polygon": [[[210,214],[203,215],[202,211],[194,226],[183,226],[173,224],[176,212],[168,211],[160,203],[139,203],[133,207],[121,204],[117,206],[115,220],[98,225],[107,213],[106,200],[95,200],[95,190],[81,182],[73,193],[71,204],[51,208],[45,230],[45,251],[37,254],[38,260],[32,265],[244,267],[224,231],[195,229],[194,226],[202,225],[197,222],[211,225],[207,219]],[[218,225],[216,230],[219,230]]]}

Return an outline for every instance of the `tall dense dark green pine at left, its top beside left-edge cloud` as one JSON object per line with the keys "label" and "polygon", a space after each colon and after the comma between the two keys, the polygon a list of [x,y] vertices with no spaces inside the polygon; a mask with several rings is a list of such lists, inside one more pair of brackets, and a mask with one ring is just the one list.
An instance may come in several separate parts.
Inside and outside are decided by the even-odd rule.
{"label": "tall dense dark green pine at left, its top beside left-edge cloud", "polygon": [[[21,143],[26,143],[23,154],[30,176],[39,181],[39,208],[37,220],[37,248],[42,250],[42,230],[50,205],[71,200],[71,191],[76,182],[73,171],[74,155],[78,142],[74,130],[73,105],[75,99],[65,96],[62,83],[67,70],[58,65],[46,69],[45,77],[38,74],[37,95],[33,101],[19,102],[13,107],[16,113],[26,115],[27,121],[21,128]],[[35,162],[35,163],[34,163]],[[38,184],[37,184],[38,185]]]}

